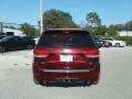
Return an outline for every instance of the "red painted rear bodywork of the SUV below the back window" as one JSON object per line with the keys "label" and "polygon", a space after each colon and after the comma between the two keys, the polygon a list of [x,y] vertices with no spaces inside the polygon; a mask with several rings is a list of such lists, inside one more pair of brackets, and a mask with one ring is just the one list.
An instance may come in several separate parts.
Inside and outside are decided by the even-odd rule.
{"label": "red painted rear bodywork of the SUV below the back window", "polygon": [[[61,55],[73,55],[73,62],[61,62]],[[64,73],[61,72],[62,69]],[[85,72],[85,69],[88,69],[88,72]],[[77,79],[95,82],[99,80],[99,50],[96,46],[47,48],[36,45],[34,48],[33,76],[37,81]]]}

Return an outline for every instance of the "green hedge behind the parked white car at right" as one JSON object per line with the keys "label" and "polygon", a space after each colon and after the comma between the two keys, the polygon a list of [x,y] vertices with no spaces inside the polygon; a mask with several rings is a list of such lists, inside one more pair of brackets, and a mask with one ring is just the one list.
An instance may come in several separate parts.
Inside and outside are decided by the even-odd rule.
{"label": "green hedge behind the parked white car at right", "polygon": [[132,45],[132,36],[116,36],[116,35],[95,35],[96,37],[113,37],[116,40],[121,40],[127,43],[127,45]]}

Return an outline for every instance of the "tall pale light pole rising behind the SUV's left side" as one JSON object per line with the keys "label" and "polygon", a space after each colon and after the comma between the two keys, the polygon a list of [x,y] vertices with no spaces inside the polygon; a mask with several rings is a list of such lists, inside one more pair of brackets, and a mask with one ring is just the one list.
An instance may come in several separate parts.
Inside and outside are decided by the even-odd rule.
{"label": "tall pale light pole rising behind the SUV's left side", "polygon": [[40,0],[40,20],[41,20],[41,24],[40,24],[40,29],[41,29],[41,34],[43,33],[43,0]]}

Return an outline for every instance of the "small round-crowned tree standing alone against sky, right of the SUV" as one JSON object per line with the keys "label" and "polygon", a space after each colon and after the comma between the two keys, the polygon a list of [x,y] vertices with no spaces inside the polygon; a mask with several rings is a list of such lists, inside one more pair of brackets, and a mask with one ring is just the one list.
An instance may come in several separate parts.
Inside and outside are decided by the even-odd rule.
{"label": "small round-crowned tree standing alone against sky, right of the SUV", "polygon": [[90,12],[86,16],[88,25],[91,26],[100,26],[101,25],[101,19],[96,12]]}

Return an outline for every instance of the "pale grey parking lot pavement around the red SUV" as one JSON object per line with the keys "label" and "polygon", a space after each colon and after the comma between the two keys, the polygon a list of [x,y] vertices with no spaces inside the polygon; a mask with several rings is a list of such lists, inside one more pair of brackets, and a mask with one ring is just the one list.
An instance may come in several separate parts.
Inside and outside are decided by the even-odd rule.
{"label": "pale grey parking lot pavement around the red SUV", "polygon": [[32,80],[32,51],[0,54],[0,99],[132,99],[132,47],[100,48],[100,82],[43,87]]}

